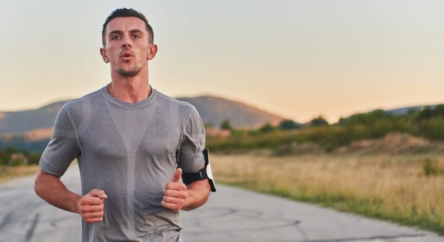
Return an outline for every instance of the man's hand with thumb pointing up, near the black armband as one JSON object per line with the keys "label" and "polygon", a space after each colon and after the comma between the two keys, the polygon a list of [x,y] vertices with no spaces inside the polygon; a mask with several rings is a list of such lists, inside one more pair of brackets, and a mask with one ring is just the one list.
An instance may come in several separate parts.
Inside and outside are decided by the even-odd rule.
{"label": "man's hand with thumb pointing up, near the black armband", "polygon": [[182,169],[177,168],[174,172],[171,183],[166,184],[162,206],[179,212],[186,204],[187,192],[186,185],[182,183],[180,177],[182,176]]}

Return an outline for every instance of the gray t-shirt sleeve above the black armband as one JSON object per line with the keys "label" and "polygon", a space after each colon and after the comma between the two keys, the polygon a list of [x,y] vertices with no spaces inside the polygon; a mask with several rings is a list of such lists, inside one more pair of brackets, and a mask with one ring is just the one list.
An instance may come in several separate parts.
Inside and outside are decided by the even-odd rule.
{"label": "gray t-shirt sleeve above the black armband", "polygon": [[178,167],[184,172],[196,172],[205,165],[205,129],[197,109],[193,106],[182,133]]}

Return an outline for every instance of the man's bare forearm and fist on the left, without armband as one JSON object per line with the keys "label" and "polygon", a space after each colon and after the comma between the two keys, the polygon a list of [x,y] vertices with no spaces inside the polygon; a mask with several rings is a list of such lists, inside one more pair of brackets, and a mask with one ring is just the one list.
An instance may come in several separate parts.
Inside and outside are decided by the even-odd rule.
{"label": "man's bare forearm and fist on the left, without armband", "polygon": [[35,193],[62,210],[80,214],[87,223],[103,220],[105,192],[93,189],[85,196],[71,192],[57,176],[45,173],[40,167],[34,185]]}

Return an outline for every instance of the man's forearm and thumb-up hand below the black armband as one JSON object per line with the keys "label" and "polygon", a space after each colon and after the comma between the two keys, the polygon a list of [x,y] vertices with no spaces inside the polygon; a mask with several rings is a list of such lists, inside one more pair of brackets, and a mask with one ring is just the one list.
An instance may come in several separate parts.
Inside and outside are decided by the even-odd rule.
{"label": "man's forearm and thumb-up hand below the black armband", "polygon": [[171,183],[166,184],[162,206],[178,212],[194,210],[208,200],[211,187],[208,180],[197,180],[186,186],[180,180],[182,169],[178,168]]}

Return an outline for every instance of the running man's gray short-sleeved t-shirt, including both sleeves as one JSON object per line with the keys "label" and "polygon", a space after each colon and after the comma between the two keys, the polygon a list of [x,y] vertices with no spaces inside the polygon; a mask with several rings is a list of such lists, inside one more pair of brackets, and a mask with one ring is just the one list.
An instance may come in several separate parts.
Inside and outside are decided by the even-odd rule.
{"label": "running man's gray short-sleeved t-shirt, including both sleeves", "polygon": [[77,158],[82,194],[108,195],[104,221],[82,222],[83,241],[180,241],[179,214],[160,202],[176,164],[183,172],[204,167],[204,146],[204,125],[191,104],[155,89],[126,103],[104,86],[61,108],[40,166],[62,176]]}

